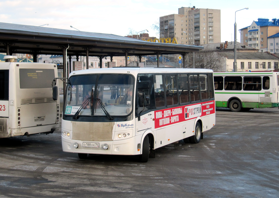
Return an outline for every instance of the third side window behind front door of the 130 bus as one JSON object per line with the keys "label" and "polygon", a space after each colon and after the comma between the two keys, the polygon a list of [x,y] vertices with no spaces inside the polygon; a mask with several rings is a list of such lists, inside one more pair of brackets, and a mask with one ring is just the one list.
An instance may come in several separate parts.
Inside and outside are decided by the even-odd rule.
{"label": "third side window behind front door of the 130 bus", "polygon": [[189,99],[189,85],[188,85],[188,75],[178,74],[178,92],[179,92],[179,103],[190,102]]}

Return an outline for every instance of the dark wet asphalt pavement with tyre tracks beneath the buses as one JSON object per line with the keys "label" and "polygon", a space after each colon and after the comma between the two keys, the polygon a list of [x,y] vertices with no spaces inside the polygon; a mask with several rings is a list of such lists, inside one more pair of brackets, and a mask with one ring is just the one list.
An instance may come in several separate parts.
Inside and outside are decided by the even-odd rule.
{"label": "dark wet asphalt pavement with tyre tracks beneath the buses", "polygon": [[199,144],[135,156],[65,153],[53,134],[0,139],[0,197],[279,197],[279,109],[230,112]]}

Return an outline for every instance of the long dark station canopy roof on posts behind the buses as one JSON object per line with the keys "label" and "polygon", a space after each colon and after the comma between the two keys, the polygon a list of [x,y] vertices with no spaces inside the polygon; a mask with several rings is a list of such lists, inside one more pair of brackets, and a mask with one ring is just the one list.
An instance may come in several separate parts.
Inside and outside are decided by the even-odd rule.
{"label": "long dark station canopy roof on posts behind the buses", "polygon": [[89,56],[143,56],[155,54],[185,54],[203,47],[155,43],[113,34],[82,32],[48,27],[0,23],[0,52],[16,54]]}

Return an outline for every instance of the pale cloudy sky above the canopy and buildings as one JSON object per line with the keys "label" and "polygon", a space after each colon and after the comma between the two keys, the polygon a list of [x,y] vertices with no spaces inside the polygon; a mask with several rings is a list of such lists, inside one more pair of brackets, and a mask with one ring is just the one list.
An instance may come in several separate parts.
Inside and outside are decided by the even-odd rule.
{"label": "pale cloudy sky above the canopy and buildings", "polygon": [[[234,40],[235,11],[237,30],[251,25],[258,18],[279,18],[278,2],[263,0],[0,0],[0,21],[49,28],[109,33],[120,36],[130,29],[147,29],[156,37],[152,24],[160,16],[178,14],[178,8],[193,7],[221,10],[221,42]],[[141,32],[143,33],[143,32]],[[240,42],[240,33],[237,31]]]}

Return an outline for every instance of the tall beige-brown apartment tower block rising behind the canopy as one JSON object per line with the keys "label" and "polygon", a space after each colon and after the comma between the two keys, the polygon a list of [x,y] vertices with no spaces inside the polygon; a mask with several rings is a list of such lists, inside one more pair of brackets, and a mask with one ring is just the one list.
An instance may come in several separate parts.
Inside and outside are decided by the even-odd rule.
{"label": "tall beige-brown apartment tower block rising behind the canopy", "polygon": [[160,17],[160,38],[176,38],[178,44],[221,42],[219,9],[178,8],[178,14]]}

